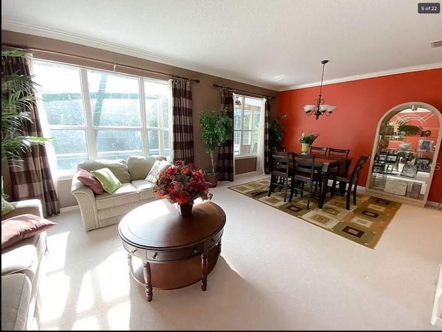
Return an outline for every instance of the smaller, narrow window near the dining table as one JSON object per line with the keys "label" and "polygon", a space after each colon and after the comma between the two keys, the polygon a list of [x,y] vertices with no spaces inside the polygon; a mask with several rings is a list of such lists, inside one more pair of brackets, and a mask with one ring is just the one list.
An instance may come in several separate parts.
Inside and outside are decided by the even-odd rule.
{"label": "smaller, narrow window near the dining table", "polygon": [[262,99],[233,94],[233,153],[256,155]]}

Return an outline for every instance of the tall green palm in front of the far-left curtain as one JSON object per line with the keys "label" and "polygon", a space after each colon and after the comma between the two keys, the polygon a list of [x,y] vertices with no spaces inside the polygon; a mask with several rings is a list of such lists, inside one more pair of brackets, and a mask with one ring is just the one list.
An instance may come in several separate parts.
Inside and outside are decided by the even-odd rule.
{"label": "tall green palm in front of the far-left curtain", "polygon": [[19,160],[32,144],[44,144],[50,139],[23,135],[23,125],[32,123],[28,111],[35,104],[35,86],[32,75],[6,75],[4,66],[8,57],[28,58],[22,50],[1,51],[1,161]]}

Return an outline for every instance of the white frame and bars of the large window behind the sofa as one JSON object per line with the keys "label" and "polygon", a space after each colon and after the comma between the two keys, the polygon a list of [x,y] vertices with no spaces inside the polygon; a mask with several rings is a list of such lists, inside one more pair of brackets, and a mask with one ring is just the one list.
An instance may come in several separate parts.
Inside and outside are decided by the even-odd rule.
{"label": "white frame and bars of the large window behind the sofa", "polygon": [[[142,139],[142,148],[141,153],[140,150],[133,150],[133,153],[131,154],[132,150],[121,150],[121,152],[125,152],[129,155],[143,155],[145,157],[151,156],[151,155],[165,155],[166,148],[165,148],[165,141],[164,141],[164,132],[169,133],[169,155],[167,156],[167,159],[171,159],[172,154],[172,142],[171,139],[173,137],[172,133],[172,102],[170,100],[171,93],[167,93],[167,96],[165,97],[168,100],[168,112],[169,112],[169,121],[167,121],[167,126],[165,127],[150,127],[148,126],[148,119],[147,119],[147,109],[146,109],[146,91],[145,91],[145,82],[151,82],[155,84],[164,84],[164,86],[169,86],[169,82],[164,79],[154,79],[151,77],[142,77],[138,75],[131,75],[126,74],[122,72],[113,72],[111,70],[103,70],[99,68],[90,68],[85,66],[77,66],[75,64],[66,64],[59,61],[51,61],[47,59],[41,59],[34,57],[32,58],[32,65],[35,65],[35,62],[38,63],[46,63],[53,66],[60,66],[62,68],[71,68],[74,70],[78,70],[79,72],[79,83],[80,83],[80,92],[81,92],[81,105],[82,105],[82,112],[84,116],[84,124],[81,125],[54,125],[54,124],[48,124],[48,121],[46,121],[47,130],[83,130],[85,139],[86,139],[86,159],[93,160],[93,159],[105,159],[106,157],[103,155],[103,153],[100,157],[98,156],[98,148],[97,148],[97,141],[95,137],[95,131],[96,130],[136,130],[140,132],[140,136]],[[138,94],[139,94],[139,112],[140,112],[140,126],[95,126],[93,124],[93,109],[91,105],[90,100],[90,92],[89,92],[89,85],[88,85],[88,71],[93,72],[104,72],[107,75],[115,75],[117,77],[123,77],[123,78],[135,78],[137,79],[138,84]],[[44,104],[43,99],[41,96],[43,95],[42,88],[37,89],[37,106],[39,110],[44,110]],[[164,100],[164,99],[159,99]],[[41,111],[40,111],[41,112]],[[46,117],[46,110],[42,112],[43,115]],[[164,118],[163,116],[163,110],[160,108],[157,108],[157,119]],[[159,121],[159,120],[158,120]],[[157,133],[159,137],[158,142],[158,153],[156,154],[150,154],[149,152],[149,133]],[[156,149],[155,149],[156,150]],[[68,155],[75,157],[77,156],[83,156],[84,153],[55,153],[55,149],[52,148],[53,151],[53,158],[55,159],[55,164],[57,164],[57,157]],[[113,151],[115,153],[115,151]],[[117,151],[120,152],[120,151]],[[68,169],[68,170],[59,170],[57,168],[57,178],[58,179],[67,179],[68,177],[72,177],[72,175],[75,175],[77,172],[77,169]]]}

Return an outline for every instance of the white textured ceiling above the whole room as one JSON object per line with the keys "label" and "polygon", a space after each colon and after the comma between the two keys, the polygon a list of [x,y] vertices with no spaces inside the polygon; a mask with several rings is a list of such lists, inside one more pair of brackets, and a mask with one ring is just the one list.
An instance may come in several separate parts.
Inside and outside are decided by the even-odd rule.
{"label": "white textured ceiling above the whole room", "polygon": [[442,67],[416,0],[2,0],[1,28],[288,90]]}

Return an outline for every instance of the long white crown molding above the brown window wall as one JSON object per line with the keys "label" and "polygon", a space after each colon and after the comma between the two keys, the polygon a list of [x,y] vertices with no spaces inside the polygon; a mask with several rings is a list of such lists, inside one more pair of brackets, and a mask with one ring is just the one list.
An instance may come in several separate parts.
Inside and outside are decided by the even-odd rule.
{"label": "long white crown molding above the brown window wall", "polygon": [[128,48],[124,46],[119,46],[113,43],[107,43],[104,41],[100,41],[98,39],[91,39],[89,37],[73,35],[67,32],[60,32],[56,30],[50,30],[46,28],[39,28],[37,26],[29,26],[27,24],[15,23],[12,21],[2,21],[1,22],[1,30],[8,30],[12,32],[19,32],[26,35],[34,35],[38,37],[56,39],[59,41],[66,41],[68,43],[75,43],[82,46],[88,46],[92,48],[98,48],[100,50],[106,50],[109,52],[115,52],[122,55],[129,55],[131,57],[137,57],[140,59],[154,61],[160,64],[165,64],[168,66],[173,66],[177,68],[182,68],[186,70],[192,70],[195,72],[200,72],[202,74],[211,75],[215,77],[220,77],[223,79],[229,79],[231,81],[237,81],[243,84],[249,84],[251,86],[256,86],[258,88],[269,89],[273,91],[278,91],[277,86],[271,86],[267,84],[262,84],[257,81],[253,81],[250,79],[244,79],[242,77],[236,77],[235,75],[231,75],[229,77],[226,76],[225,73],[222,73],[218,70],[214,70],[211,68],[204,68],[202,66],[198,66],[198,64],[191,64],[184,61],[179,61],[177,59],[173,59],[171,57],[164,57],[160,55],[155,55],[150,52],[145,52],[142,50],[137,50],[135,48]]}

